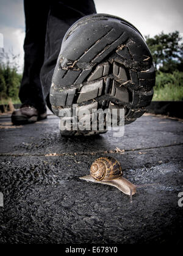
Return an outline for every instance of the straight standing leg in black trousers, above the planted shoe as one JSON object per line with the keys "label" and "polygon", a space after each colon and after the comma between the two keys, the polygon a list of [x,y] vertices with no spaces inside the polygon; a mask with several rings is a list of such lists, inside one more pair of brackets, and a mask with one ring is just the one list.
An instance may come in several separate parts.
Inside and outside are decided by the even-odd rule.
{"label": "straight standing leg in black trousers, above the planted shoe", "polygon": [[40,82],[45,54],[45,35],[49,4],[24,0],[26,37],[24,40],[24,72],[19,97],[21,103],[34,106],[41,114],[46,111]]}

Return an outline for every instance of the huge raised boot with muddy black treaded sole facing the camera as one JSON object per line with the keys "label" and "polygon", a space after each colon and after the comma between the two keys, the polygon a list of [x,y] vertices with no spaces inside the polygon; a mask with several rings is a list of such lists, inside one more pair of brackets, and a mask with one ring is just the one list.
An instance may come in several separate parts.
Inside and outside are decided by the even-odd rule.
{"label": "huge raised boot with muddy black treaded sole facing the camera", "polygon": [[[107,14],[84,16],[63,38],[52,76],[50,102],[60,109],[124,109],[124,124],[146,111],[153,96],[155,70],[140,32],[129,22]],[[79,117],[78,117],[79,119]],[[98,131],[61,131],[91,135]]]}

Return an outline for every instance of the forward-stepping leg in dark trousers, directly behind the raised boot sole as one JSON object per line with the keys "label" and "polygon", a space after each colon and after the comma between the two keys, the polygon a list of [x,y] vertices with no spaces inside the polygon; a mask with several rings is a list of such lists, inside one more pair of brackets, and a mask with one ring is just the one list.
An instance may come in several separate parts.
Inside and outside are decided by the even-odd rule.
{"label": "forward-stepping leg in dark trousers, directly behind the raised boot sole", "polygon": [[43,94],[50,109],[49,90],[63,37],[70,26],[79,18],[92,13],[96,13],[93,0],[51,2],[46,30],[45,61],[40,74]]}

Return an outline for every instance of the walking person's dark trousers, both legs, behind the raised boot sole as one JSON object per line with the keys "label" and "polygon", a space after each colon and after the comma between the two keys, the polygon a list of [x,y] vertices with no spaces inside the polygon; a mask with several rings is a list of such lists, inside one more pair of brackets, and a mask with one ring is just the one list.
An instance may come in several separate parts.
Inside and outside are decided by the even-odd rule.
{"label": "walking person's dark trousers, both legs, behind the raised boot sole", "polygon": [[62,39],[69,27],[82,16],[96,13],[93,0],[24,0],[26,37],[24,72],[19,97],[40,113],[49,103],[51,78]]}

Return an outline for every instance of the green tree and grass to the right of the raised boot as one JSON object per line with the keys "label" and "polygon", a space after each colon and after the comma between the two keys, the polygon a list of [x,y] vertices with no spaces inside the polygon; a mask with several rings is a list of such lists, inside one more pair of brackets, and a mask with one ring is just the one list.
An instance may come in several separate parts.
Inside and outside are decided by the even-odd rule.
{"label": "green tree and grass to the right of the raised boot", "polygon": [[152,100],[183,100],[183,43],[178,31],[153,38],[146,43],[156,68],[156,86]]}

